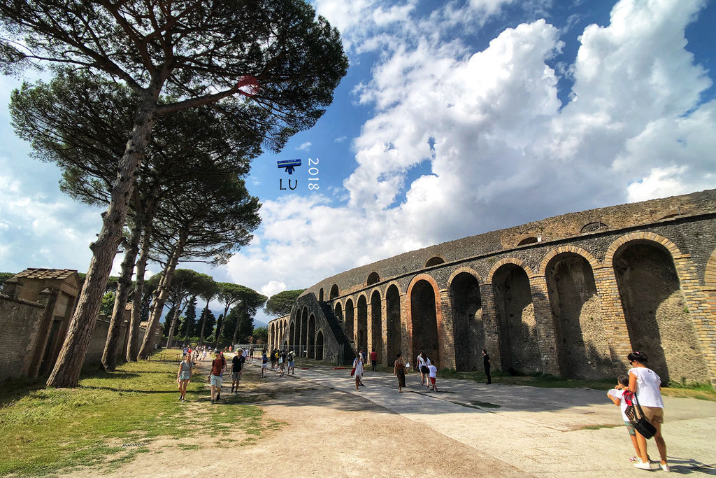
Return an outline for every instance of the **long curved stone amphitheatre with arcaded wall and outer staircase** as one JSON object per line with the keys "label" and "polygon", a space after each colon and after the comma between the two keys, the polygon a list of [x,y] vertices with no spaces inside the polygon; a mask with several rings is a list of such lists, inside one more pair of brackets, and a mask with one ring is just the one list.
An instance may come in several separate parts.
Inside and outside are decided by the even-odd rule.
{"label": "long curved stone amphitheatre with arcaded wall and outer staircase", "polygon": [[269,322],[269,346],[389,365],[614,378],[631,350],[716,385],[716,190],[563,214],[327,277]]}

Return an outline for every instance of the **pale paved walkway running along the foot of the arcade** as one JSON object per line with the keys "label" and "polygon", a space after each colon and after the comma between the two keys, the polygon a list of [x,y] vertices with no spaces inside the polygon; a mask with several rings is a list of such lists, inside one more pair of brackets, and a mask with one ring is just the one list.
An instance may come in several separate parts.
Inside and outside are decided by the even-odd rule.
{"label": "pale paved walkway running along the foot of the arcade", "polygon": [[[357,392],[349,369],[296,368],[289,378],[361,396],[526,474],[646,473],[630,464],[632,443],[619,408],[604,391],[438,378],[440,391],[435,393],[420,386],[420,375],[411,373],[406,393],[399,394],[395,377],[368,371],[366,386]],[[716,474],[716,402],[665,397],[664,405],[672,472]],[[649,455],[659,456],[654,441],[649,441]]]}

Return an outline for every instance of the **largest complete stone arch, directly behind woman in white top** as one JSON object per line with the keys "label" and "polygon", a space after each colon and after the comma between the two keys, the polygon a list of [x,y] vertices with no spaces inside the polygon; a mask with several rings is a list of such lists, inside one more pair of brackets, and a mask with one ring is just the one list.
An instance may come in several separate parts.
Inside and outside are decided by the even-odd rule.
{"label": "largest complete stone arch, directly behind woman in white top", "polygon": [[[629,239],[626,239],[626,238]],[[607,259],[614,269],[621,306],[634,350],[649,357],[662,381],[690,377],[708,380],[674,254],[679,249],[657,234],[627,234],[611,246]],[[625,240],[626,239],[626,240]],[[606,262],[606,261],[605,261]]]}

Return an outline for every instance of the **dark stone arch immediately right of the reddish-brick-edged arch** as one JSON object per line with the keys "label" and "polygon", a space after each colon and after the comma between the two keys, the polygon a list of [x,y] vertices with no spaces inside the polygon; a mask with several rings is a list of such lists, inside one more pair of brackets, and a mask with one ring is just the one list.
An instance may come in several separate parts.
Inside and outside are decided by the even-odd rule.
{"label": "dark stone arch immediately right of the reddish-brick-edged arch", "polygon": [[455,369],[478,368],[480,350],[485,347],[480,276],[469,267],[460,267],[450,275],[448,290],[453,302]]}

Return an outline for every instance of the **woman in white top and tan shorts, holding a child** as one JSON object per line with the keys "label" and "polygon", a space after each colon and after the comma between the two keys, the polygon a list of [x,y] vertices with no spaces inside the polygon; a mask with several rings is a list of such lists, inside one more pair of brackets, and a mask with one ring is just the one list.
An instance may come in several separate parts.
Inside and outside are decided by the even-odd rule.
{"label": "woman in white top and tan shorts, holding a child", "polygon": [[[639,406],[644,411],[644,418],[649,420],[657,433],[654,434],[654,441],[659,449],[664,472],[669,471],[667,464],[667,444],[662,436],[662,424],[664,423],[664,401],[662,401],[662,379],[656,372],[648,368],[647,354],[644,352],[632,352],[627,356],[632,365],[629,369],[629,390],[636,393]],[[652,464],[647,456],[647,439],[637,431],[637,443],[639,444],[639,458],[641,462],[634,464],[640,469],[652,469]]]}

